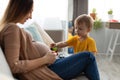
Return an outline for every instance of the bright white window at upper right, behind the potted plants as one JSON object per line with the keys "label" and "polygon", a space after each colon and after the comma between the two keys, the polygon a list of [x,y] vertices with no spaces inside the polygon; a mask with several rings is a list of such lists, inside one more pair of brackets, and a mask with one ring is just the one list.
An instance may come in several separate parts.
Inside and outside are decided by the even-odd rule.
{"label": "bright white window at upper right, behind the potted plants", "polygon": [[118,0],[89,0],[89,13],[96,8],[97,16],[104,21],[108,20],[107,11],[113,10],[113,18],[120,21],[120,8]]}

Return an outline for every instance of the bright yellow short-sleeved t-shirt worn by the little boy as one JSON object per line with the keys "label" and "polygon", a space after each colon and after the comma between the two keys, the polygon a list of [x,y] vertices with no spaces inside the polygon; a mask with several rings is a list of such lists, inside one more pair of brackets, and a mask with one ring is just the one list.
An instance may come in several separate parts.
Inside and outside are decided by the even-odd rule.
{"label": "bright yellow short-sleeved t-shirt worn by the little boy", "polygon": [[83,51],[97,52],[96,42],[93,38],[88,36],[83,41],[80,41],[79,38],[80,37],[76,35],[67,40],[68,46],[73,46],[74,53],[83,52]]}

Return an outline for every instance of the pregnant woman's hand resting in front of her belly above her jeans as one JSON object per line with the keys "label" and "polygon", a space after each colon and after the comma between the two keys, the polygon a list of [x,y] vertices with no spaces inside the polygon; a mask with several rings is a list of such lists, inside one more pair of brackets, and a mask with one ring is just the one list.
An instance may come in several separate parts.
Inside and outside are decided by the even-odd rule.
{"label": "pregnant woman's hand resting in front of her belly above her jeans", "polygon": [[49,64],[49,65],[53,64],[55,62],[55,60],[56,60],[56,55],[57,55],[56,52],[54,52],[54,51],[48,51],[46,53],[46,55],[44,56],[44,58],[46,60],[46,63]]}

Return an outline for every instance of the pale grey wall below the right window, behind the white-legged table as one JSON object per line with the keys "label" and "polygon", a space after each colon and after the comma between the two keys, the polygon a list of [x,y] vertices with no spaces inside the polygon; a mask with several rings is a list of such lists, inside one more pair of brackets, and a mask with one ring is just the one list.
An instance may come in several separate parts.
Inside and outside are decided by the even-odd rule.
{"label": "pale grey wall below the right window, behind the white-legged table", "polygon": [[[114,34],[113,31],[115,31],[115,29],[107,28],[106,24],[108,24],[108,23],[103,22],[102,23],[102,28],[100,28],[98,30],[92,30],[90,32],[90,36],[93,37],[96,41],[98,53],[104,53],[104,54],[107,53],[107,49],[108,49],[108,45],[110,43],[110,39],[112,37],[112,34]],[[115,36],[116,36],[116,34],[114,34],[114,36],[113,36],[112,45],[115,41]],[[120,35],[119,35],[119,38],[118,38],[118,43],[120,43]],[[111,48],[112,48],[112,46],[111,46]],[[114,53],[116,53],[116,54],[120,53],[120,45],[116,46]]]}

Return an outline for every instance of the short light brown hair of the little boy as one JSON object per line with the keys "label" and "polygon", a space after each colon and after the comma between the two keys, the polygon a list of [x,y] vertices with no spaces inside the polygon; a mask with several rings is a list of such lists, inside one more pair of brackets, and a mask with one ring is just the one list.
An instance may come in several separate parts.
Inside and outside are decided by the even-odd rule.
{"label": "short light brown hair of the little boy", "polygon": [[93,20],[87,14],[82,14],[75,19],[75,25],[79,26],[80,24],[85,24],[89,29],[93,26]]}

